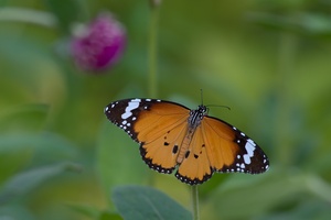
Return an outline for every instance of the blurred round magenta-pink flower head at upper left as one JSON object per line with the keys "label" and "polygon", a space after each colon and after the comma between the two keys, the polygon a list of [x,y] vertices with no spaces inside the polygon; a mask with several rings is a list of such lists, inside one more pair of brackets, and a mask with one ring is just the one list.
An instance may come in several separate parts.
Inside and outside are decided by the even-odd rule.
{"label": "blurred round magenta-pink flower head at upper left", "polygon": [[71,51],[76,65],[84,70],[103,70],[113,66],[126,45],[126,31],[109,14],[99,14],[77,32]]}

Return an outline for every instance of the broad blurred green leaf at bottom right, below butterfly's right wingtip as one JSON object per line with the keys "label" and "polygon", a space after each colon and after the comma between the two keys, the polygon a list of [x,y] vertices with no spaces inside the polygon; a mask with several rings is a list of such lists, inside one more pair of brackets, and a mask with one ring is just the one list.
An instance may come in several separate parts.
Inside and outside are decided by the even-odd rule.
{"label": "broad blurred green leaf at bottom right, below butterfly's right wingtip", "polygon": [[[289,207],[306,200],[309,194],[330,202],[331,187],[316,176],[291,172],[269,170],[264,176],[233,175],[209,199],[224,219],[249,219],[265,215],[271,207]],[[308,193],[309,191],[309,193]],[[235,207],[239,207],[237,211]],[[306,218],[310,219],[310,218]]]}

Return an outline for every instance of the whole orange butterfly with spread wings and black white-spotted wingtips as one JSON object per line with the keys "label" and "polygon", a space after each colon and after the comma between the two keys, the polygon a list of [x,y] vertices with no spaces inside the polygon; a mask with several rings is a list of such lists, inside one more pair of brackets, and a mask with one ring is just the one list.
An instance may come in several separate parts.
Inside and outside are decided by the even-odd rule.
{"label": "whole orange butterfly with spread wings and black white-spotted wingtips", "polygon": [[207,116],[206,106],[191,110],[159,99],[124,99],[105,108],[106,117],[140,144],[146,164],[189,185],[218,173],[264,173],[269,160],[245,133]]}

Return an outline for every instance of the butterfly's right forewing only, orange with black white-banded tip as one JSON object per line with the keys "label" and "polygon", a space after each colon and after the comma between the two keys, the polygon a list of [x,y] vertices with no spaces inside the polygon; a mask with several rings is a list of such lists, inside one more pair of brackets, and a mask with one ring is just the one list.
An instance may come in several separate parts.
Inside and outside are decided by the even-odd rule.
{"label": "butterfly's right forewing only, orange with black white-banded tip", "polygon": [[258,174],[268,169],[266,154],[238,129],[213,117],[205,117],[202,127],[211,166],[216,172]]}

